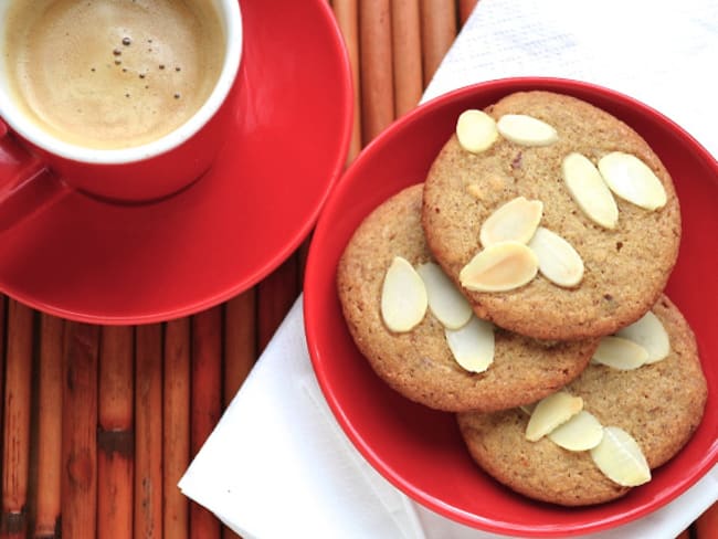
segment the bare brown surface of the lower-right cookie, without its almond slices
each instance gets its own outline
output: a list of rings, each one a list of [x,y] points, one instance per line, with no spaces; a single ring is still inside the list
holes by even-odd
[[[652,311],[669,339],[668,356],[633,370],[591,364],[566,388],[583,399],[583,410],[603,426],[619,426],[641,447],[648,467],[671,459],[703,418],[707,385],[696,340],[678,309],[665,296]],[[590,452],[559,447],[549,437],[526,438],[529,415],[519,409],[457,414],[473,458],[489,475],[531,498],[566,506],[599,504],[625,495],[603,475]]]

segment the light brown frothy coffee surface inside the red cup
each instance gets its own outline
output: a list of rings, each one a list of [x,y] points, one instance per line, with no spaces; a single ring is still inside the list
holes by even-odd
[[[219,78],[224,33],[208,0],[11,0],[7,71],[43,130],[83,147],[157,140]]]

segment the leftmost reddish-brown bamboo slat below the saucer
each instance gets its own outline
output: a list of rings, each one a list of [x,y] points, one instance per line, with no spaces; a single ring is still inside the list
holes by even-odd
[[[28,533],[33,313],[11,299],[7,324],[0,537],[14,538]]]

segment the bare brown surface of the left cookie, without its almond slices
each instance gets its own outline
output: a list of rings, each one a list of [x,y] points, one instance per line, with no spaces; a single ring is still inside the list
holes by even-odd
[[[339,262],[344,316],[377,374],[408,399],[444,411],[489,411],[532,402],[576,378],[588,364],[595,340],[550,345],[496,329],[493,363],[478,373],[457,363],[444,326],[431,310],[409,331],[387,327],[382,287],[393,258],[401,256],[414,267],[432,260],[421,207],[421,184],[386,201],[357,229]]]

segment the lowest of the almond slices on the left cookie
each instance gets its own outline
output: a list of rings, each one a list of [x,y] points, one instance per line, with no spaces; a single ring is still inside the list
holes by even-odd
[[[456,362],[469,372],[484,372],[494,362],[494,326],[473,316],[461,329],[444,329]]]

